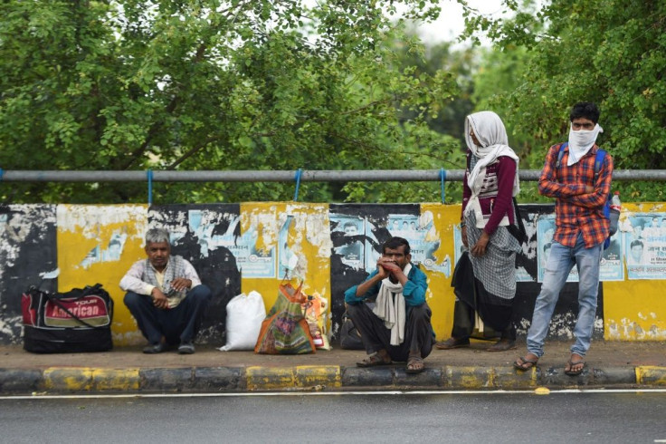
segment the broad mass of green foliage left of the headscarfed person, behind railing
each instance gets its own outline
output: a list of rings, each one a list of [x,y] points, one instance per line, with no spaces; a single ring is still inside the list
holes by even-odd
[[[458,86],[400,63],[425,0],[0,5],[3,169],[435,169]],[[398,6],[403,13],[398,14]],[[395,21],[395,17],[399,20]],[[301,185],[310,201],[433,201],[438,184]],[[163,184],[156,201],[290,199],[293,184]],[[10,202],[140,202],[146,185],[13,184]]]

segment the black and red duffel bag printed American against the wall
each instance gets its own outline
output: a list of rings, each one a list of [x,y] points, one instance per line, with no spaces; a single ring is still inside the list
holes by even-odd
[[[100,284],[67,293],[30,287],[22,296],[21,309],[28,352],[106,352],[113,348],[113,300]]]

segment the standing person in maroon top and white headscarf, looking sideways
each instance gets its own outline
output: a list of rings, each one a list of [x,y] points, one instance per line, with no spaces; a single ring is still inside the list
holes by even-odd
[[[516,348],[511,322],[516,295],[516,254],[520,251],[519,217],[513,197],[520,189],[519,158],[508,143],[507,130],[492,111],[465,120],[467,169],[463,179],[461,236],[467,248],[453,272],[456,294],[452,337],[440,350],[468,347],[474,314],[496,332],[499,342],[489,352]]]

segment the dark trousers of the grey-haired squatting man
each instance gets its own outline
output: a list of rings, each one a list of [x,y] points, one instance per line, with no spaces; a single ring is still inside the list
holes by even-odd
[[[180,304],[167,310],[157,308],[150,296],[145,294],[128,292],[124,302],[148,343],[160,343],[164,336],[166,343],[176,345],[195,339],[210,299],[210,289],[205,285],[196,285]]]

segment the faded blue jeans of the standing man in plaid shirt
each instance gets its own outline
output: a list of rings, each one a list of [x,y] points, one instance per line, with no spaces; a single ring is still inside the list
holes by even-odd
[[[583,235],[579,234],[576,245],[571,248],[553,242],[546,264],[541,293],[532,314],[532,324],[528,331],[528,352],[539,358],[544,354],[544,340],[548,324],[553,316],[559,292],[566,283],[566,277],[576,264],[578,268],[578,319],[574,335],[576,343],[571,352],[585,356],[592,341],[595,327],[596,295],[599,290],[599,265],[604,252],[604,244],[585,248]]]

